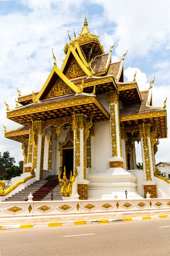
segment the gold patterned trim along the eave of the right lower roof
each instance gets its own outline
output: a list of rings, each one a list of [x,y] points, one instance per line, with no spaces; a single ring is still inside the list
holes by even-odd
[[[153,113],[142,113],[142,114],[131,115],[131,116],[121,116],[120,122],[135,120],[135,119],[150,118],[150,117],[166,116],[166,115],[167,115],[166,111],[159,111],[159,112],[153,112]]]

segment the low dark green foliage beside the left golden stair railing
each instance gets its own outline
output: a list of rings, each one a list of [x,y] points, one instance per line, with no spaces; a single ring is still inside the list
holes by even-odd
[[[11,166],[6,168],[6,172],[1,176],[1,180],[10,180],[13,177],[20,176],[23,173],[23,161],[19,161],[19,166]]]

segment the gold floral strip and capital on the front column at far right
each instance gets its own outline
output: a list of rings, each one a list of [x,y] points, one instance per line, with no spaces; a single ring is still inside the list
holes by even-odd
[[[149,141],[150,139],[150,124],[139,125],[139,134],[141,139],[143,139],[143,150],[144,150],[144,169],[146,173],[146,180],[152,180],[151,177],[151,163],[150,163],[150,153],[149,153]]]

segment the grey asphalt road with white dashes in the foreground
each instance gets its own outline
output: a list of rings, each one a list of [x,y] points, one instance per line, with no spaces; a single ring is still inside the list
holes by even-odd
[[[170,219],[0,231],[0,256],[170,256]]]

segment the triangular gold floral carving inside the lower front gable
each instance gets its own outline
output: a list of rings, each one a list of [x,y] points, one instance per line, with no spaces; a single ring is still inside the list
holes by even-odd
[[[46,99],[54,98],[61,95],[68,95],[74,93],[65,82],[59,78],[48,93]]]

